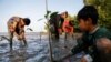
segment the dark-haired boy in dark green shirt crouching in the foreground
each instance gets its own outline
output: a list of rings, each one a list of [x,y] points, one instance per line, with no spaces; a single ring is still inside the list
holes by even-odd
[[[99,50],[97,43],[101,43],[98,42],[98,40],[101,38],[111,40],[111,33],[105,28],[100,28],[98,25],[99,14],[93,6],[84,6],[79,11],[77,18],[79,21],[80,30],[83,32],[81,38],[82,41],[78,41],[78,44],[71,50],[72,53],[64,56],[63,59],[83,51],[85,55],[82,58],[81,62],[102,62],[100,58],[102,54],[100,53],[101,51]],[[102,44],[107,45],[105,43]]]

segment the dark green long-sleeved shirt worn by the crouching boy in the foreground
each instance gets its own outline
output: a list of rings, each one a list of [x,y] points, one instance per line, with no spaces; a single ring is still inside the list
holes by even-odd
[[[99,52],[97,50],[95,43],[100,38],[111,39],[111,33],[105,28],[99,28],[93,33],[84,32],[82,37],[82,41],[78,41],[78,45],[72,49],[72,53],[77,54],[81,51],[84,51],[87,54],[90,54],[93,62],[99,62]],[[98,59],[97,59],[98,58]]]

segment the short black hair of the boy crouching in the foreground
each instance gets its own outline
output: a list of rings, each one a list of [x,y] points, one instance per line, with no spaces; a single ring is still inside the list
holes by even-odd
[[[87,20],[88,18],[91,18],[92,24],[98,23],[99,14],[98,10],[93,6],[84,6],[77,16],[78,20]]]

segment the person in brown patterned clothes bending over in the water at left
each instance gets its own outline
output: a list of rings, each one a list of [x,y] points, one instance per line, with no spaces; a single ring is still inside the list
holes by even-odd
[[[10,49],[12,49],[12,39],[13,35],[17,35],[18,40],[22,40],[27,45],[24,37],[24,25],[30,24],[29,18],[12,17],[8,21],[8,31],[10,37]]]

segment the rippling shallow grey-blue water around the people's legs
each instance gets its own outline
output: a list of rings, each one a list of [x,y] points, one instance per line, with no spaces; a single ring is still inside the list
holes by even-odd
[[[3,34],[8,37],[7,34]],[[69,53],[69,50],[74,43],[69,41],[68,48],[63,49],[63,38],[60,41],[51,42],[52,55],[58,60]],[[28,46],[24,46],[21,41],[16,38],[13,40],[13,50],[10,51],[7,40],[0,41],[0,62],[50,62],[49,40],[48,35],[40,37],[37,33],[27,34]],[[70,43],[71,42],[71,43]],[[64,62],[69,62],[68,60]],[[78,62],[75,59],[71,62]]]

